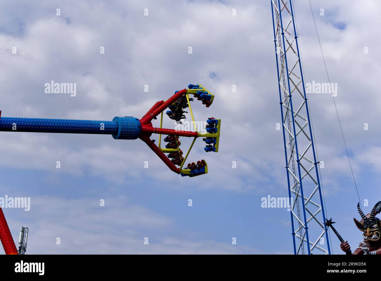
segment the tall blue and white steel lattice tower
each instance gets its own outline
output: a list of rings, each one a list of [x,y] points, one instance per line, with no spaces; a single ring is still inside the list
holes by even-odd
[[[291,0],[271,10],[294,254],[331,254]]]

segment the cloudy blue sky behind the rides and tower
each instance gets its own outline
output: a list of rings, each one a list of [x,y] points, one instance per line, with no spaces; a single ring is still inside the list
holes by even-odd
[[[381,200],[381,3],[311,2],[360,199],[372,206]],[[309,3],[294,4],[305,81],[328,82]],[[201,83],[215,101],[210,108],[194,101],[196,120],[223,122],[219,153],[203,152],[200,140],[192,149],[189,161],[205,159],[209,169],[195,178],[171,172],[140,140],[2,132],[0,197],[30,197],[30,211],[4,209],[15,241],[20,226],[29,227],[27,254],[293,253],[290,213],[261,207],[263,197],[288,196],[270,1],[0,7],[2,116],[140,118],[175,90]],[[46,94],[51,80],[76,83],[77,95]],[[362,241],[353,223],[359,199],[333,100],[316,93],[309,102],[327,214],[354,249]],[[164,124],[174,127],[168,118]],[[332,235],[333,253],[341,254]]]

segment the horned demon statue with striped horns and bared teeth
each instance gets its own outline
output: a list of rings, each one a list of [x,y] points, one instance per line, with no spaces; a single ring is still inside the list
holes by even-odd
[[[361,216],[360,222],[353,218],[355,224],[359,230],[363,232],[363,242],[360,242],[360,246],[352,253],[351,247],[347,241],[340,244],[341,249],[346,252],[347,255],[381,255],[381,225],[379,218],[376,215],[381,212],[381,201],[373,207],[372,211],[364,215],[360,209],[360,203],[357,204],[357,210]]]

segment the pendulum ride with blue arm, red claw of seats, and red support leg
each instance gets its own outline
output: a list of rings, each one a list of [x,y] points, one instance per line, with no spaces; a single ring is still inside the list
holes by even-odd
[[[205,128],[206,132],[197,132],[191,107],[191,101],[194,99],[189,97],[190,95],[201,101],[207,108],[213,103],[214,95],[210,91],[200,84],[189,84],[188,89],[176,91],[168,100],[155,103],[141,119],[128,116],[114,117],[112,121],[1,117],[0,111],[0,131],[102,134],[112,135],[115,140],[135,140],[140,138],[162,159],[170,170],[180,174],[182,177],[196,177],[208,173],[207,162],[205,162],[205,160],[191,162],[183,169],[184,163],[187,160],[195,140],[199,137],[202,137],[206,143],[204,151],[218,152],[221,119],[208,118]],[[163,111],[166,108],[170,109],[166,111],[166,115],[180,122],[181,119],[185,118],[184,113],[187,113],[184,111],[184,108],[188,107],[195,129],[194,132],[162,128]],[[152,120],[157,119],[159,114],[160,127],[156,128],[152,126]],[[154,140],[150,138],[153,133],[159,135],[158,146],[155,145]],[[163,139],[163,141],[167,143],[165,148],[161,147],[162,135],[167,135]],[[193,138],[192,144],[185,156],[183,156],[183,152],[180,149],[180,136]],[[168,153],[168,155],[164,153]],[[23,231],[25,232],[25,230]],[[24,241],[25,235],[27,237],[27,234],[24,233],[21,238],[20,234],[21,243]],[[21,245],[22,247],[18,252],[1,208],[0,239],[6,254],[24,254],[26,241],[24,242],[25,245]]]

